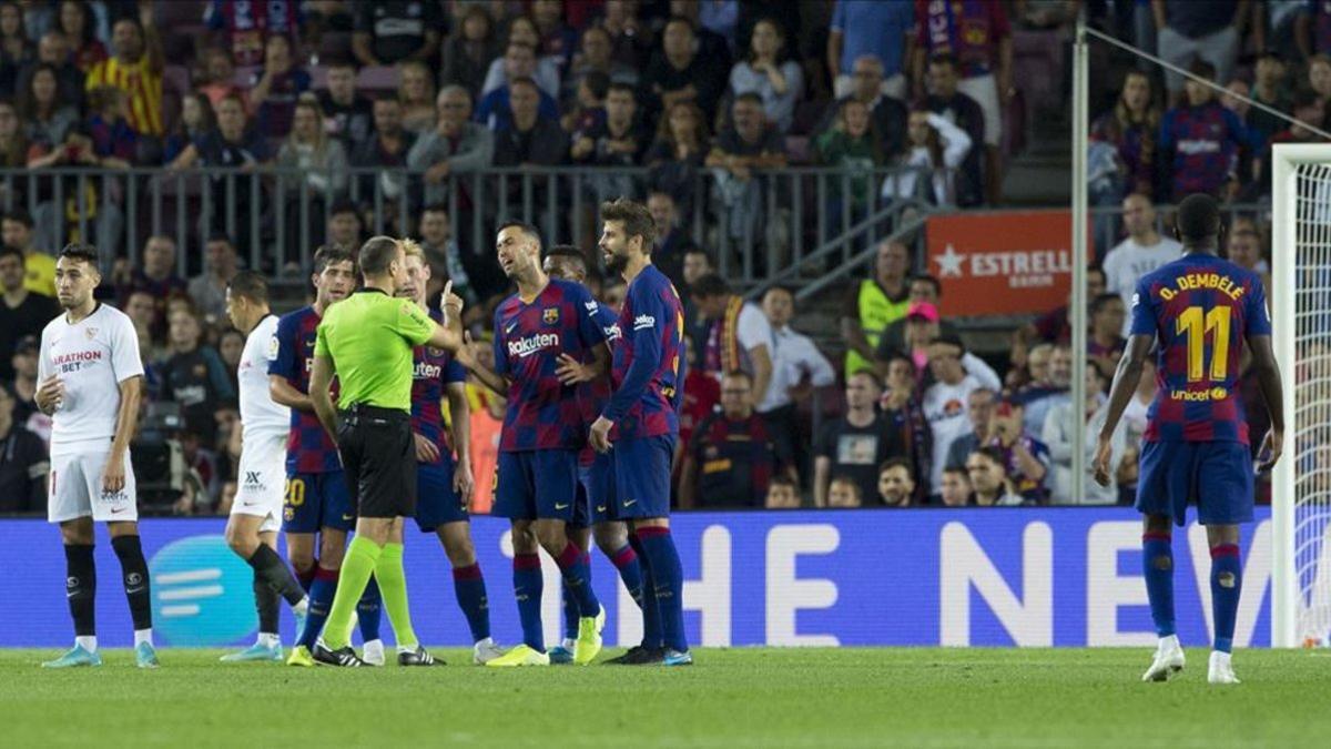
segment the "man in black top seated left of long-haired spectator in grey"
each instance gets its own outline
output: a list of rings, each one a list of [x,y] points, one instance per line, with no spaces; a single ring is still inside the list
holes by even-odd
[[[643,88],[652,112],[673,112],[676,104],[695,104],[704,124],[716,119],[716,104],[725,92],[725,68],[699,48],[693,23],[675,16],[662,31],[662,48],[643,72]],[[663,125],[664,127],[664,125]]]

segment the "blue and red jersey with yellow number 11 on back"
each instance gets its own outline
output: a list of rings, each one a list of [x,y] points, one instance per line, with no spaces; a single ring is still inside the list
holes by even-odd
[[[1256,273],[1214,255],[1185,255],[1137,283],[1131,332],[1159,344],[1145,440],[1248,442],[1238,386],[1243,341],[1271,335]]]

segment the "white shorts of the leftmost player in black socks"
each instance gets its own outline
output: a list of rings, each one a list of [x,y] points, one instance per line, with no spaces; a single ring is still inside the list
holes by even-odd
[[[114,494],[101,490],[101,474],[110,450],[51,456],[47,477],[47,520],[64,522],[92,516],[98,522],[138,520],[138,492],[134,468],[125,450],[125,488]]]

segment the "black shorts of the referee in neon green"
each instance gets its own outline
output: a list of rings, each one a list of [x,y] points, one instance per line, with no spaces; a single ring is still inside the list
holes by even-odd
[[[357,517],[414,517],[417,464],[411,414],[357,404],[341,416],[338,453]]]

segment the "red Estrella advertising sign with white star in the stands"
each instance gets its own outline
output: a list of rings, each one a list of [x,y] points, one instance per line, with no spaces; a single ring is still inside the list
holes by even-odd
[[[1022,315],[1067,304],[1070,211],[930,216],[929,273],[942,281],[942,313]],[[1087,244],[1090,225],[1087,223]]]

